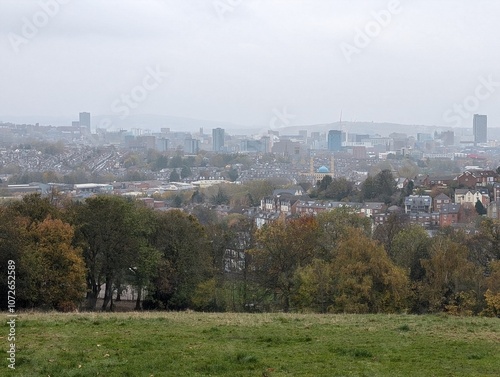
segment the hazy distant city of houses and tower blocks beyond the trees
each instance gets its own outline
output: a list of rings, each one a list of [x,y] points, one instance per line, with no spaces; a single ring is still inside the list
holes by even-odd
[[[475,114],[471,126],[469,134],[450,129],[415,129],[410,134],[402,132],[404,128],[388,135],[358,133],[350,131],[353,124],[342,122],[251,135],[230,134],[222,127],[200,127],[197,132],[96,127],[92,132],[89,112],[81,112],[71,126],[1,123],[0,196],[48,195],[57,188],[73,198],[134,195],[153,207],[169,208],[172,195],[179,192],[270,180],[276,187],[303,188],[292,189],[295,194],[256,198],[260,205],[243,208],[260,225],[281,215],[315,214],[343,205],[379,224],[395,210],[395,203],[351,197],[325,201],[328,198],[308,195],[325,176],[346,179],[361,191],[368,177],[385,169],[398,189],[406,190],[411,182],[399,210],[413,222],[427,228],[451,225],[440,214],[452,211],[457,214],[452,222],[458,223],[460,206],[474,206],[478,200],[489,216],[498,218],[500,141],[488,137],[486,115]]]

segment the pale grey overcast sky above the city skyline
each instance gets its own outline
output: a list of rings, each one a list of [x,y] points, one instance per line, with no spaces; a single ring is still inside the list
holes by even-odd
[[[498,0],[3,0],[0,120],[500,126]]]

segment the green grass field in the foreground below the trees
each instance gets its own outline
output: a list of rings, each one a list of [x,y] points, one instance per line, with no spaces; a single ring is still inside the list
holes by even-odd
[[[500,376],[497,318],[25,313],[16,338],[0,376]]]

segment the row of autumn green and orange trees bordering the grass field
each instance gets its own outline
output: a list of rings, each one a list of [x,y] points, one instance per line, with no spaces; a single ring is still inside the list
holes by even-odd
[[[346,208],[260,229],[205,212],[25,196],[0,207],[3,276],[14,260],[17,307],[43,310],[113,310],[132,286],[138,310],[500,315],[499,221],[430,237],[397,214],[372,230]]]

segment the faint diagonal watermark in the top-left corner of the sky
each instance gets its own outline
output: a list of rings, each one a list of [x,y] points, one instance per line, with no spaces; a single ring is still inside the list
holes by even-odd
[[[66,5],[71,0],[40,0],[38,6],[40,7],[30,17],[21,18],[21,28],[18,33],[10,32],[7,34],[10,45],[14,52],[17,54],[22,45],[31,42],[40,31],[45,28],[54,17],[61,11],[61,5]]]

